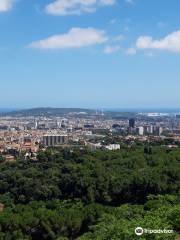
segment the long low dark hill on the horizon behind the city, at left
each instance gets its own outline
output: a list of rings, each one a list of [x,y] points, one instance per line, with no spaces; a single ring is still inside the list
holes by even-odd
[[[4,112],[1,113],[1,116],[64,116],[67,114],[77,114],[77,115],[85,115],[85,114],[93,114],[94,110],[83,109],[83,108],[32,108],[32,109],[24,109],[18,111]]]

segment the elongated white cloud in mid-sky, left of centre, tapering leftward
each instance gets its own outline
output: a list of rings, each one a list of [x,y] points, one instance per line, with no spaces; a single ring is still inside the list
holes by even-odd
[[[40,49],[81,48],[101,44],[107,40],[108,37],[103,30],[95,28],[72,28],[68,33],[32,42],[29,47]]]

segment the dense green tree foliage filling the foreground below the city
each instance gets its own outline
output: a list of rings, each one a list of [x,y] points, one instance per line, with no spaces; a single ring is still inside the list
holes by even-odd
[[[47,149],[0,162],[0,239],[137,239],[137,226],[180,233],[180,149]],[[167,195],[168,194],[168,195]]]

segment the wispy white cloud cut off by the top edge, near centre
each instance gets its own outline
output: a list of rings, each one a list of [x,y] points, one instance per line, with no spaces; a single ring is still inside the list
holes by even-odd
[[[114,5],[116,0],[56,0],[45,7],[52,15],[80,15],[95,12],[97,7]]]

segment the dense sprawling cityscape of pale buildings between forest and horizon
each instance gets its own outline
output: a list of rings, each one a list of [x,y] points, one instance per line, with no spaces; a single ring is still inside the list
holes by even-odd
[[[39,149],[47,147],[88,147],[91,150],[118,150],[121,143],[169,140],[176,148],[180,141],[178,113],[118,113],[91,110],[46,115],[40,109],[23,115],[4,113],[0,117],[0,152],[7,161],[19,155],[36,160]],[[37,109],[34,109],[34,113]],[[68,111],[68,109],[67,109]],[[83,109],[82,109],[83,111]],[[32,112],[32,113],[31,113]],[[32,114],[32,115],[31,115]],[[132,115],[134,115],[132,117]]]

